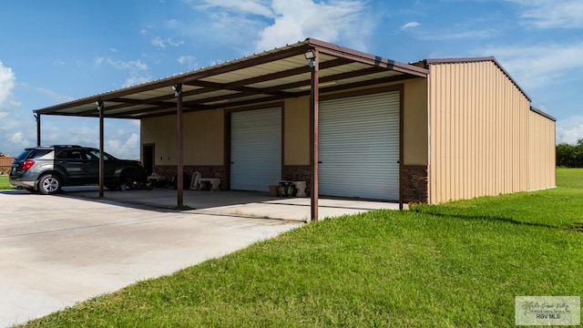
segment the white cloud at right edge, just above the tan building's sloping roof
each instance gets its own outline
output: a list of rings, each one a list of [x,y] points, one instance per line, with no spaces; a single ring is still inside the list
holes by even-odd
[[[583,42],[572,45],[498,46],[479,51],[496,56],[502,66],[526,88],[544,87],[558,78],[583,70]]]

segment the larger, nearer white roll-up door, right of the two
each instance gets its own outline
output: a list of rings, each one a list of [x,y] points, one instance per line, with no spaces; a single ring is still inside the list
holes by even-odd
[[[321,195],[399,200],[399,92],[320,103]]]

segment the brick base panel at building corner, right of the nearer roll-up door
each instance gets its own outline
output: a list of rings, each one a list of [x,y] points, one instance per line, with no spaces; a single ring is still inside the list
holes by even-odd
[[[427,193],[428,169],[424,165],[404,165],[401,171],[401,192],[405,203],[422,202],[429,199]]]

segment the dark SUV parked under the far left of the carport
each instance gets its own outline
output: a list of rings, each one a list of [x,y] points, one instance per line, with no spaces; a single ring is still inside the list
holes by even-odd
[[[104,185],[108,190],[131,187],[145,179],[136,160],[103,153]],[[12,163],[10,183],[30,192],[54,194],[64,186],[99,183],[99,150],[74,145],[25,149]]]

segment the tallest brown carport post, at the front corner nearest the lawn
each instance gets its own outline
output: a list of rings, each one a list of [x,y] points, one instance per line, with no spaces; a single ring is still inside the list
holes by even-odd
[[[318,82],[320,76],[320,61],[318,49],[313,50],[313,58],[310,62],[312,67],[312,78],[310,89],[310,207],[311,219],[318,221],[318,116],[320,93]]]

